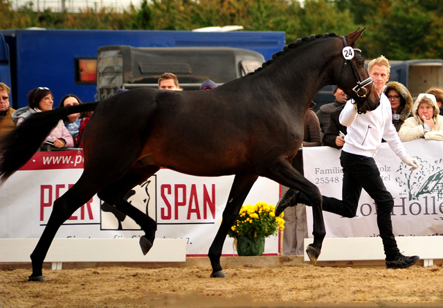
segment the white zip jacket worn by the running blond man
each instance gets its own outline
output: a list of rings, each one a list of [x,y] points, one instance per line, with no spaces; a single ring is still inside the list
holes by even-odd
[[[357,114],[353,102],[346,103],[339,117],[340,123],[347,126],[343,151],[372,157],[377,154],[383,138],[399,158],[404,158],[406,150],[392,125],[392,109],[386,95],[382,93],[379,107],[366,114]]]

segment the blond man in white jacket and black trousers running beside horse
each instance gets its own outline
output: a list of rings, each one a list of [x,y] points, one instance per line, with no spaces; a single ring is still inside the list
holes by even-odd
[[[415,158],[406,153],[399,135],[395,132],[395,127],[391,124],[390,102],[383,93],[389,79],[389,71],[390,65],[386,57],[381,56],[369,62],[368,72],[380,96],[379,107],[365,114],[358,114],[351,100],[341,111],[340,123],[347,126],[346,142],[340,156],[343,167],[343,199],[323,196],[322,206],[327,212],[343,217],[355,217],[361,190],[368,192],[377,206],[377,226],[386,255],[386,268],[404,269],[415,264],[419,257],[417,255],[407,257],[399,251],[392,233],[390,218],[394,199],[383,184],[373,156],[381,145],[381,138],[384,138],[401,161],[412,167],[410,170],[417,169],[419,165]],[[288,190],[278,201],[275,216],[280,215],[288,206],[295,206],[297,203],[311,205],[305,194],[293,189]]]

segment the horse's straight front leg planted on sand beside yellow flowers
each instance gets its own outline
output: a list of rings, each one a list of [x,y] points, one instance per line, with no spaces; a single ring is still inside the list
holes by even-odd
[[[213,266],[213,273],[210,274],[210,277],[224,278],[227,276],[220,265],[221,249],[223,248],[226,235],[228,235],[228,230],[233,226],[235,219],[237,219],[243,202],[257,178],[258,176],[251,174],[235,175],[233,185],[230,188],[228,203],[226,203],[226,208],[223,211],[223,221],[221,221],[217,235],[215,235],[213,244],[209,248],[208,257],[210,264]]]

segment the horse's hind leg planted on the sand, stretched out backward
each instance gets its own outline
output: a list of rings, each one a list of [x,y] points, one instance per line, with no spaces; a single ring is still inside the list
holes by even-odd
[[[42,266],[57,230],[62,226],[64,221],[73,215],[75,210],[78,210],[80,206],[91,200],[96,192],[97,190],[94,190],[94,185],[87,183],[84,180],[84,176],[82,176],[71,189],[54,201],[53,211],[49,217],[48,224],[44,228],[33,253],[30,255],[33,264],[33,273],[29,276],[29,281],[45,281],[42,274]]]

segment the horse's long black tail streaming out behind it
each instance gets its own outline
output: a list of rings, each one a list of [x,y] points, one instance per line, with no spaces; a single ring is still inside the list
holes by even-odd
[[[0,141],[0,184],[37,152],[57,123],[69,114],[93,111],[99,102],[36,112]]]

